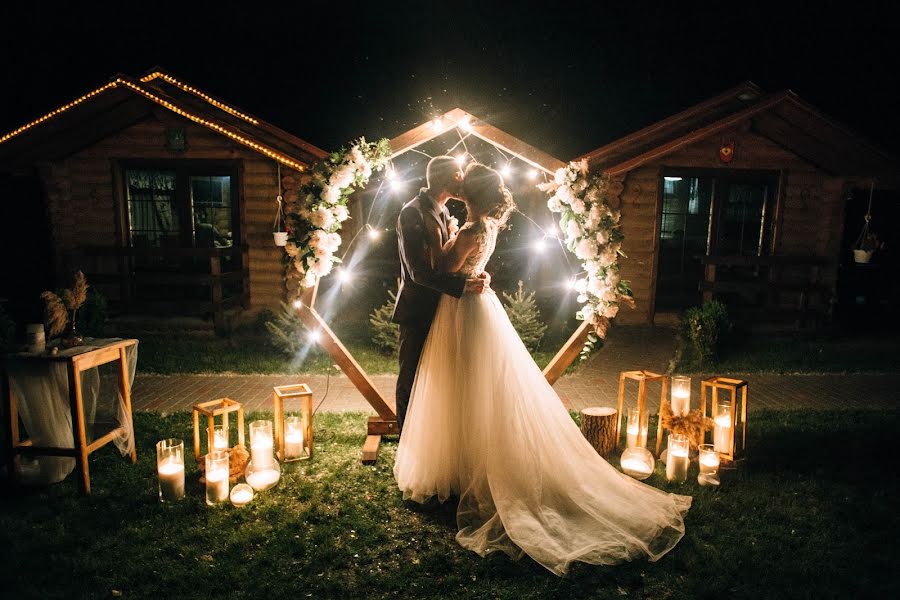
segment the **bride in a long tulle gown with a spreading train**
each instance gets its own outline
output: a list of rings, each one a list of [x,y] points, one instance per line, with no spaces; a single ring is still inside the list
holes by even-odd
[[[480,274],[513,209],[497,171],[472,164],[448,272]],[[684,535],[689,496],[620,473],[581,434],[493,293],[442,295],[422,351],[394,476],[404,499],[459,498],[456,540],[481,556],[655,561]]]

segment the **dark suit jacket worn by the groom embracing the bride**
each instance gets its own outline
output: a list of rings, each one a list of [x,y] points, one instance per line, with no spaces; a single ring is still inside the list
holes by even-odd
[[[443,245],[449,237],[449,218],[447,209],[438,206],[425,188],[400,210],[397,218],[400,291],[391,316],[394,323],[428,328],[437,312],[442,293],[462,297],[465,278],[440,273],[432,267],[429,260],[429,246]],[[440,239],[434,239],[435,229],[440,232]]]

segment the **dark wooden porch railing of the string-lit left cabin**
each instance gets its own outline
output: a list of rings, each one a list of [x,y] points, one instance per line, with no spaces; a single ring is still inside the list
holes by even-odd
[[[234,268],[223,271],[223,260],[233,257]],[[102,259],[115,259],[115,267]],[[196,263],[208,264],[202,271],[164,270],[152,265],[140,266],[135,259],[168,258],[184,264],[189,259],[200,259]],[[206,259],[206,260],[203,260]],[[69,256],[70,266],[81,269],[89,283],[118,284],[122,309],[151,309],[174,315],[212,313],[216,331],[222,331],[224,311],[235,306],[249,307],[250,302],[250,259],[248,246],[237,245],[228,248],[148,248],[83,246]],[[208,263],[206,263],[208,261]],[[227,293],[226,285],[237,283],[239,292]],[[157,300],[141,298],[137,286],[162,286],[181,289],[208,288],[208,299]]]

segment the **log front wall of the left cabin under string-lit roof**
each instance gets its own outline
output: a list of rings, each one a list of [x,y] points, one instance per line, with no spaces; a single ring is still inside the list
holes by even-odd
[[[187,148],[166,148],[165,131],[184,127]],[[243,207],[243,242],[249,245],[250,306],[253,311],[277,310],[285,297],[284,251],[274,245],[272,224],[278,194],[277,165],[273,160],[164,109],[140,123],[89,146],[65,160],[44,165],[51,234],[57,273],[64,274],[63,256],[84,245],[115,246],[122,236],[127,210],[118,205],[114,181],[116,160],[227,160],[240,161],[238,178]],[[290,169],[282,168],[282,176]],[[114,263],[110,262],[112,271]],[[110,288],[113,291],[113,288]]]

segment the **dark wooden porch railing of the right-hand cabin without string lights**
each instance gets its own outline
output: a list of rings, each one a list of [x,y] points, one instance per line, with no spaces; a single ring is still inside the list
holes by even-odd
[[[703,300],[723,294],[756,298],[756,316],[765,320],[790,317],[794,325],[819,324],[835,293],[836,259],[825,256],[700,256]],[[723,268],[745,267],[749,279],[723,280]],[[830,275],[830,277],[829,277]],[[784,296],[790,295],[788,302]],[[750,311],[744,311],[750,312]]]

